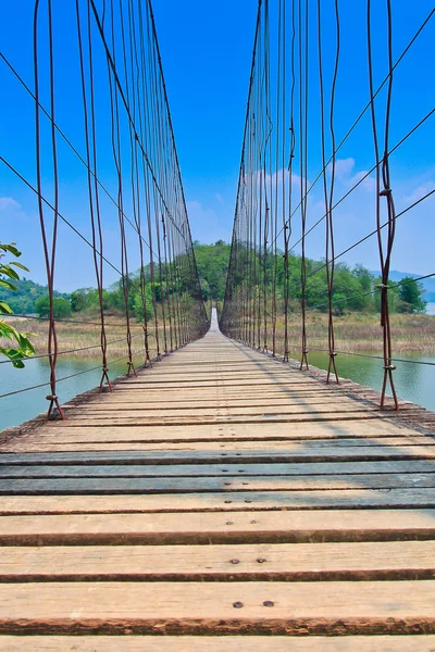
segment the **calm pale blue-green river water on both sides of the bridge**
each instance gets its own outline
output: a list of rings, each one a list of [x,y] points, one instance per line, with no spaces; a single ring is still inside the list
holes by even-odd
[[[370,352],[369,352],[370,353]],[[378,355],[378,353],[375,353]],[[401,399],[412,401],[435,411],[435,366],[415,364],[431,362],[431,355],[400,355],[410,362],[397,362],[394,372],[397,393]],[[339,354],[337,356],[338,374],[356,383],[381,390],[383,379],[383,361]],[[136,361],[135,361],[136,363]],[[327,355],[310,351],[309,363],[320,368],[327,368]],[[0,393],[24,389],[25,387],[48,383],[49,366],[47,359],[29,360],[24,369],[14,369],[10,364],[0,364]],[[139,364],[139,361],[137,361]],[[76,394],[96,387],[100,383],[101,368],[95,358],[83,359],[66,355],[58,361],[58,378],[79,374],[74,378],[59,383],[58,394],[62,403]],[[90,371],[88,371],[90,369]],[[126,372],[126,362],[117,362],[111,366],[110,377],[116,378]],[[47,410],[46,396],[49,387],[40,387],[0,399],[0,431],[3,428],[17,426]]]

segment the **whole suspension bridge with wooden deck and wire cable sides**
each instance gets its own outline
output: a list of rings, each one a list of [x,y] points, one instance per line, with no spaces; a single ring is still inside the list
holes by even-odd
[[[44,360],[48,377],[2,388],[2,401],[47,391],[47,413],[1,435],[0,650],[435,648],[435,415],[395,388],[398,365],[434,363],[395,353],[390,318],[403,285],[390,281],[396,227],[435,192],[426,185],[397,208],[394,153],[427,139],[435,109],[422,92],[414,122],[397,120],[394,89],[419,43],[433,42],[435,9],[397,51],[390,1],[383,29],[378,5],[363,4],[368,93],[344,127],[344,3],[258,2],[216,306],[202,300],[150,0],[37,0],[23,28],[32,75],[1,52],[4,87],[28,111],[1,163],[35,203],[49,300],[47,317],[5,317],[16,329],[44,323],[47,351],[16,349],[0,364],[12,374]],[[338,152],[359,128],[372,167],[339,195]],[[339,210],[364,183],[366,231],[351,241]],[[380,281],[338,291],[337,261],[361,246],[376,248]],[[57,274],[73,250],[97,309],[61,318]],[[339,376],[340,356],[372,354],[340,348],[337,315],[369,300],[380,392]],[[94,343],[66,347],[72,328],[94,329]],[[87,371],[62,376],[62,356],[92,349],[99,386],[63,399]],[[319,350],[325,372],[310,364]]]

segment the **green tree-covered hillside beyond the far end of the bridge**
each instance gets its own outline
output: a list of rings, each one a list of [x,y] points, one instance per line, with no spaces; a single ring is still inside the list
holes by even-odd
[[[214,300],[222,303],[225,297],[226,273],[231,247],[223,240],[217,240],[214,244],[201,244],[194,242],[197,260],[198,273],[201,281],[202,297],[206,301]],[[276,278],[276,299],[279,301],[285,293],[285,265],[282,253],[277,255],[269,254],[266,259],[259,253],[253,254],[252,250],[246,251],[246,256],[239,255],[243,261],[239,278],[236,283],[244,283],[249,278],[249,283],[254,286],[262,285],[265,277],[266,283],[272,287]],[[298,310],[301,299],[301,262],[300,258],[290,254],[288,258],[289,269],[289,306],[290,310]],[[154,283],[150,283],[151,268],[148,265],[145,268],[146,286],[145,299],[147,305],[147,317],[152,317],[154,310],[158,309],[162,300],[171,300],[175,289],[181,292],[182,302],[189,301],[189,294],[196,291],[195,288],[187,286],[189,274],[185,261],[176,261],[176,277],[165,276],[164,269],[160,277],[160,269],[154,268]],[[401,278],[400,283],[411,281],[411,278]],[[343,314],[349,311],[377,312],[380,309],[378,292],[373,292],[378,279],[369,269],[362,265],[350,267],[346,263],[335,265],[334,276],[334,306],[336,314]],[[390,281],[395,286],[397,281]],[[23,279],[16,283],[17,291],[13,292],[7,288],[1,288],[0,299],[7,301],[15,314],[33,314],[47,316],[49,313],[48,289],[33,280]],[[235,287],[235,285],[233,285]],[[259,290],[260,291],[260,290]],[[391,288],[389,296],[391,312],[424,312],[425,302],[422,298],[423,288],[418,283],[408,283],[401,287]],[[55,316],[65,318],[72,313],[90,314],[98,310],[99,296],[95,288],[79,288],[71,294],[57,292],[54,301]],[[316,308],[320,312],[325,312],[327,286],[326,274],[323,261],[307,259],[307,306]],[[109,313],[122,313],[125,309],[124,285],[122,280],[112,284],[103,290],[103,305]],[[132,273],[128,278],[128,305],[130,314],[137,319],[144,318],[144,306],[141,298],[140,272]]]

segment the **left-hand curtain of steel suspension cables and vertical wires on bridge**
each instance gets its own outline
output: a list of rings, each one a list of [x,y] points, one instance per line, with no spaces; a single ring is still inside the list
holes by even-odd
[[[2,52],[0,73],[3,87],[13,87],[23,104],[30,140],[34,130],[36,165],[13,147],[4,148],[0,161],[11,184],[18,180],[22,192],[36,198],[49,311],[11,318],[47,324],[40,335],[47,337],[48,350],[40,352],[36,342],[32,358],[48,359],[48,418],[63,418],[57,384],[78,374],[58,378],[60,355],[99,350],[100,366],[89,371],[100,368],[100,389],[111,391],[113,363],[126,360],[127,374],[136,374],[138,364],[149,366],[203,336],[209,318],[151,2],[75,0],[61,7],[35,0],[32,45],[28,62]],[[29,65],[33,84],[23,72]],[[8,118],[13,123],[13,116]],[[69,265],[73,260],[75,265]],[[71,287],[74,267],[77,277],[94,285],[97,299],[83,318],[80,313],[60,318],[55,289],[65,283]],[[108,303],[110,284],[113,304]],[[66,333],[70,324],[83,337],[74,346]],[[98,343],[89,342],[91,327]],[[124,329],[123,339],[113,336],[114,328]],[[134,335],[137,328],[141,333]],[[144,348],[134,351],[133,340],[139,337]],[[110,355],[111,348],[124,347],[125,356]]]

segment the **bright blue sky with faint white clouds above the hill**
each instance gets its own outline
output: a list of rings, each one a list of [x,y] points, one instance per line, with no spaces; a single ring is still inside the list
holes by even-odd
[[[41,0],[42,2],[42,0]],[[16,0],[0,7],[1,51],[26,83],[33,86],[32,12],[34,2]],[[44,4],[44,2],[42,2]],[[55,3],[54,3],[55,4]],[[376,0],[375,35],[376,80],[386,72],[384,3]],[[323,7],[332,5],[324,0]],[[74,42],[70,29],[73,2],[58,7],[58,47],[63,48],[62,77],[59,79],[59,121],[65,133],[83,151],[80,122],[76,118],[74,92]],[[313,3],[314,7],[314,3]],[[271,10],[276,1],[271,0]],[[410,3],[394,0],[395,58],[433,9],[430,0]],[[234,204],[251,62],[257,0],[154,0],[153,2],[175,138],[182,166],[192,237],[202,242],[231,239]],[[62,15],[60,14],[62,11]],[[343,136],[368,100],[365,59],[365,0],[340,1],[343,55],[337,102],[337,138]],[[325,47],[328,28],[325,18]],[[313,42],[315,34],[313,34]],[[391,145],[412,128],[435,105],[433,61],[435,60],[435,17],[397,68],[391,121]],[[69,55],[71,52],[71,55]],[[313,50],[315,54],[315,51]],[[315,79],[315,77],[314,77]],[[0,84],[9,101],[0,106],[0,153],[30,179],[34,171],[33,105],[29,98],[0,61]],[[313,89],[314,92],[314,89]],[[102,97],[102,96],[101,96]],[[313,96],[314,97],[314,96]],[[382,111],[383,96],[380,97]],[[338,158],[337,197],[345,192],[373,164],[368,117],[361,121]],[[315,123],[315,108],[313,109]],[[435,116],[391,156],[393,189],[398,210],[435,187]],[[310,134],[309,180],[320,170],[319,135]],[[73,224],[86,230],[86,189],[74,159],[62,151],[62,210]],[[1,163],[0,163],[1,165]],[[105,171],[102,171],[105,173]],[[107,171],[108,176],[110,170]],[[111,179],[108,178],[108,183]],[[413,273],[433,272],[435,200],[432,197],[400,218],[393,267]],[[310,195],[309,224],[321,211],[321,187]],[[370,231],[373,224],[373,181],[361,185],[336,211],[337,250]],[[45,281],[38,235],[35,196],[4,167],[0,167],[0,234],[4,241],[15,240],[23,249],[23,262],[35,280]],[[298,227],[295,225],[295,237]],[[108,223],[107,248],[116,260],[117,228]],[[308,255],[323,255],[323,230],[310,237]],[[67,228],[61,227],[57,287],[72,290],[95,285],[89,252]],[[345,258],[378,268],[374,242]],[[132,261],[133,266],[135,260]],[[107,280],[114,280],[110,271]]]

